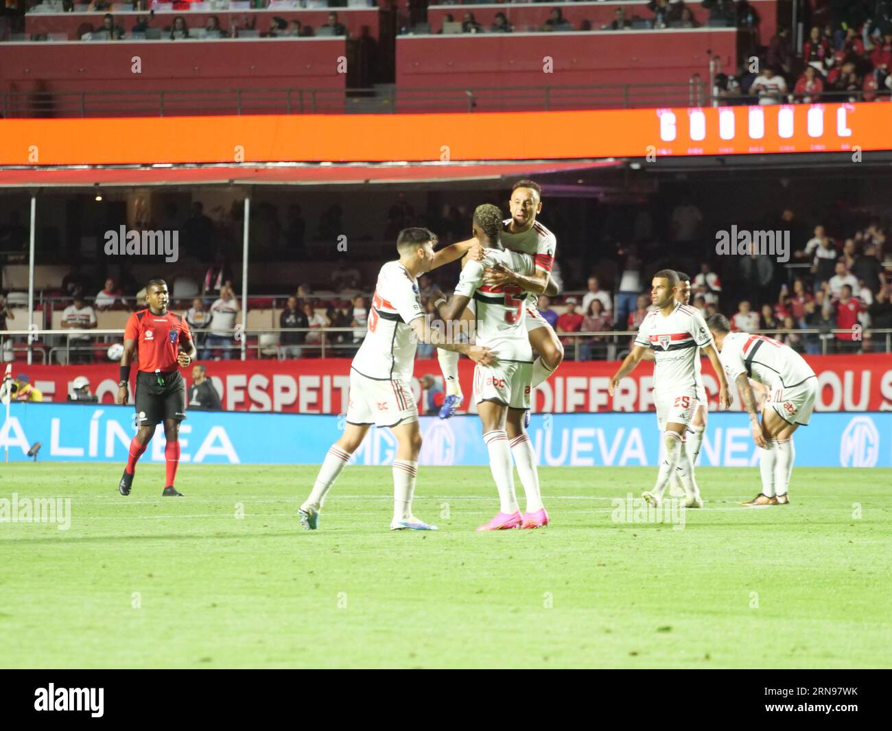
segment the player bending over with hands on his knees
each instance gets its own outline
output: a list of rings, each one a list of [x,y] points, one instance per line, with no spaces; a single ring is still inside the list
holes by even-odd
[[[759,448],[762,492],[742,504],[786,505],[796,457],[793,433],[800,424],[807,426],[811,419],[818,396],[818,379],[811,366],[789,345],[764,335],[732,333],[728,319],[722,314],[710,315],[706,324],[713,333],[728,378],[737,383],[749,412],[753,441]],[[761,424],[750,378],[769,389]]]

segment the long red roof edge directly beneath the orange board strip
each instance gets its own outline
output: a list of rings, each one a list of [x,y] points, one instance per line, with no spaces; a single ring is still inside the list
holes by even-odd
[[[620,164],[619,161],[543,161],[5,168],[0,169],[0,188],[90,188],[97,185],[101,187],[319,186],[498,181],[524,175],[612,168]]]

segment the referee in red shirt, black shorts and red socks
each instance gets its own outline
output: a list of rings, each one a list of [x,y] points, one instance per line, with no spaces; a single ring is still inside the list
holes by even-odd
[[[164,422],[164,447],[167,474],[165,497],[180,495],[174,487],[179,465],[179,422],[186,419],[186,381],[178,365],[189,365],[195,358],[195,345],[186,320],[168,312],[170,295],[163,279],[153,279],[145,287],[149,306],[134,312],[124,328],[124,355],[120,359],[118,403],[128,402],[130,363],[136,356],[136,418],[139,431],[130,442],[129,457],[118,490],[130,494],[136,462],[143,456],[155,433]]]

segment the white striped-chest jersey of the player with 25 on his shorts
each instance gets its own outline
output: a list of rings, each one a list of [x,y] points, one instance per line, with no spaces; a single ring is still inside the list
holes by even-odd
[[[655,393],[697,394],[699,348],[713,345],[712,333],[697,308],[676,303],[667,317],[659,310],[648,312],[635,345],[654,352]]]

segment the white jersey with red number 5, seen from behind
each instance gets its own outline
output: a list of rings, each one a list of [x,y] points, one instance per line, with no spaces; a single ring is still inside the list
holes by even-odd
[[[489,347],[500,361],[533,361],[524,317],[531,296],[520,287],[483,284],[483,270],[502,264],[524,276],[533,273],[533,257],[507,249],[484,249],[480,262],[469,261],[461,270],[456,295],[471,297],[477,317],[477,345]]]

